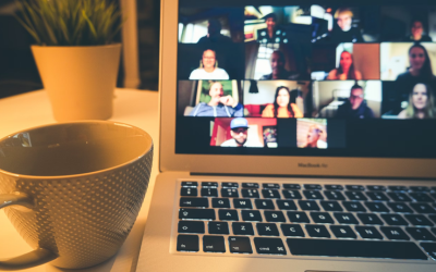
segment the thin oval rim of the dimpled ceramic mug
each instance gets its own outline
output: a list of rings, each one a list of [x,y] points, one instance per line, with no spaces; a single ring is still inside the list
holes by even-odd
[[[142,128],[137,127],[137,126],[131,125],[131,124],[123,123],[123,122],[118,122],[118,121],[100,121],[100,120],[69,121],[69,122],[60,122],[60,123],[51,123],[51,124],[44,124],[44,125],[38,125],[38,126],[32,126],[32,127],[17,131],[17,132],[15,132],[15,133],[9,134],[9,135],[7,135],[7,136],[0,138],[0,143],[2,143],[3,140],[5,140],[5,139],[8,139],[8,138],[11,138],[12,136],[14,136],[14,135],[16,135],[16,134],[20,134],[20,133],[29,132],[29,131],[34,131],[34,129],[38,129],[38,128],[43,128],[43,127],[59,126],[59,125],[68,125],[68,124],[111,124],[111,125],[117,125],[117,124],[119,124],[119,125],[124,126],[124,127],[136,128],[136,129],[140,129],[140,132],[142,132],[144,136],[148,137],[148,139],[149,139],[149,145],[148,145],[148,147],[147,147],[140,156],[135,157],[135,158],[132,159],[132,160],[129,160],[129,161],[126,161],[126,162],[120,163],[120,164],[114,165],[114,166],[110,166],[110,168],[106,168],[106,169],[101,169],[101,170],[93,171],[93,172],[86,172],[86,173],[80,173],[80,174],[70,174],[70,175],[48,175],[48,176],[45,176],[45,175],[24,175],[24,174],[17,174],[17,173],[12,173],[12,172],[9,172],[9,171],[5,171],[5,170],[0,169],[0,173],[3,173],[3,174],[9,175],[9,176],[13,176],[13,177],[27,178],[27,180],[62,180],[62,178],[72,178],[72,177],[73,177],[73,178],[80,178],[80,177],[84,177],[84,176],[88,176],[88,175],[93,175],[93,174],[100,174],[100,173],[104,173],[104,172],[112,171],[112,170],[116,170],[116,169],[123,168],[123,166],[125,166],[125,165],[132,164],[132,163],[134,163],[134,162],[141,160],[144,156],[146,156],[146,154],[147,154],[148,152],[150,152],[152,149],[153,149],[153,138],[152,138],[152,136],[150,136],[147,132],[145,132],[144,129],[142,129]]]

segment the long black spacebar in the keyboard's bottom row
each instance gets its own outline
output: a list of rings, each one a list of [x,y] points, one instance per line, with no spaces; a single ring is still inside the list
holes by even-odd
[[[292,255],[427,260],[410,242],[287,239]]]

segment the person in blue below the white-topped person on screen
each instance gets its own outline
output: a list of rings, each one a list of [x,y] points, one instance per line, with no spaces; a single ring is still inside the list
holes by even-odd
[[[242,116],[244,108],[231,96],[225,96],[222,84],[216,82],[209,88],[210,101],[199,102],[191,111],[190,116],[235,118]]]

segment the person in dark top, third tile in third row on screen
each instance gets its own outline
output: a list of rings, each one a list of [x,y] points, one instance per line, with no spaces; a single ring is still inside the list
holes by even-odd
[[[373,119],[373,110],[371,110],[363,100],[363,88],[359,85],[354,85],[351,87],[348,101],[338,107],[336,116],[340,119]]]

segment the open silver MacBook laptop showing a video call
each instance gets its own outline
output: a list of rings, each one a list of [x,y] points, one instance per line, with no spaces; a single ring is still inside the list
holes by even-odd
[[[137,271],[435,271],[431,40],[421,0],[161,1]]]

